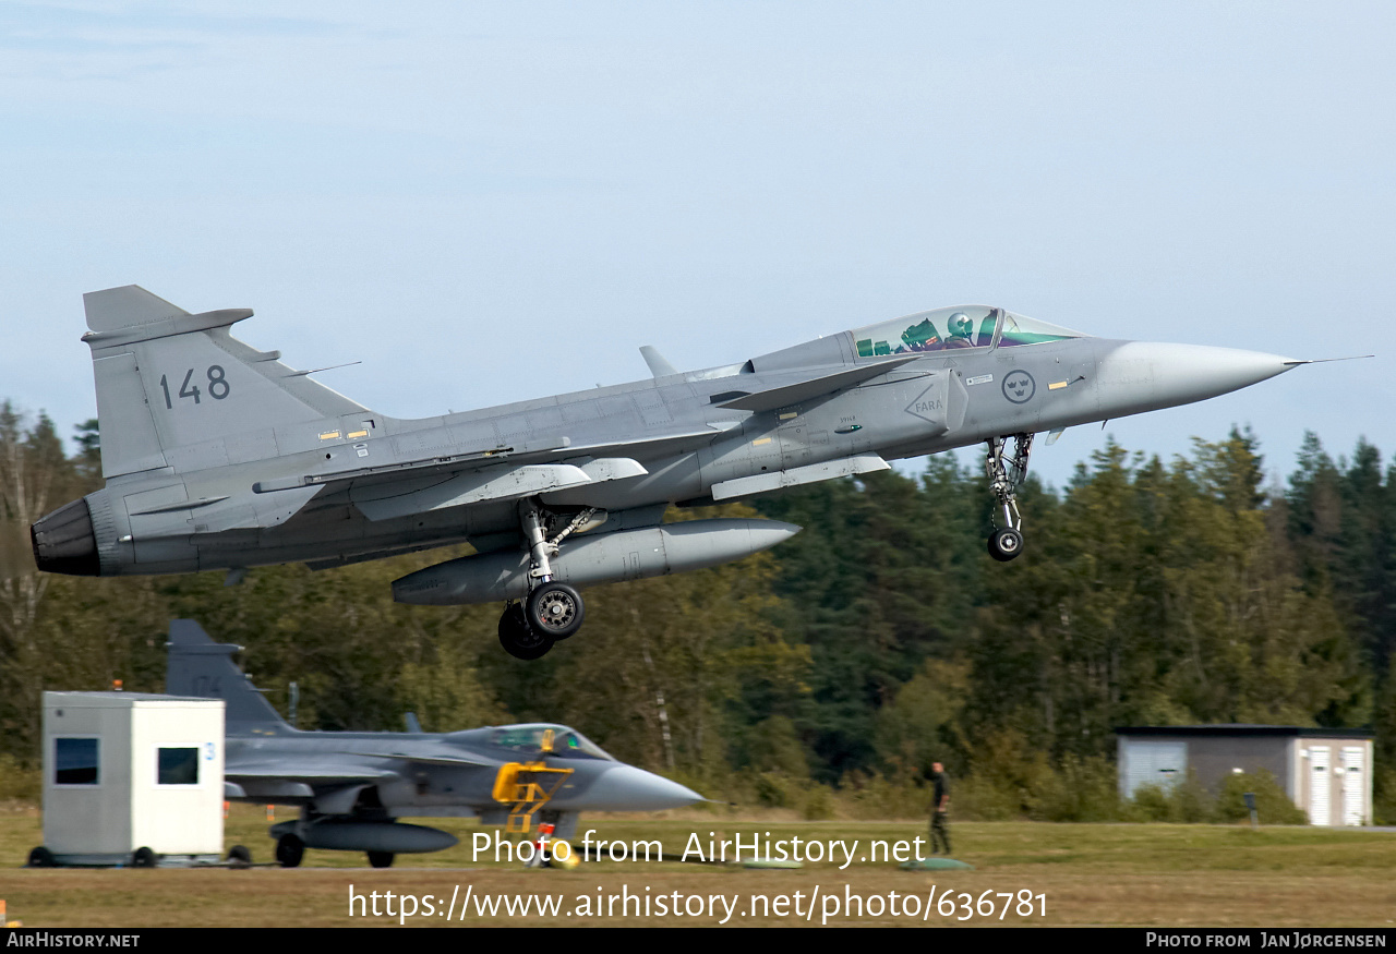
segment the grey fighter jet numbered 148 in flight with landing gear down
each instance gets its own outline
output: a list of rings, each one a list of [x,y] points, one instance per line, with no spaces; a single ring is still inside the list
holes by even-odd
[[[412,604],[504,601],[500,642],[537,658],[582,625],[578,587],[740,559],[799,531],[663,523],[974,444],[995,503],[988,551],[1023,548],[1033,435],[1223,395],[1298,364],[1275,354],[1090,338],[965,305],[680,372],[399,420],[232,338],[247,308],[190,314],[138,286],[84,296],[106,487],[32,527],[38,566],[119,576],[444,544],[475,554],[394,583]],[[1048,439],[1048,442],[1050,442]]]

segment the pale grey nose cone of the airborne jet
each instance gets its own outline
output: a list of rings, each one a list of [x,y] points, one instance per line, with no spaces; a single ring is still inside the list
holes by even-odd
[[[1208,344],[1101,342],[1096,358],[1104,417],[1191,404],[1283,374],[1302,361]]]

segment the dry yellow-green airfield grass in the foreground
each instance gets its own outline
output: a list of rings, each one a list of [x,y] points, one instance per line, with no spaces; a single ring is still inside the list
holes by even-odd
[[[281,812],[276,820],[292,817]],[[664,845],[664,863],[599,862],[577,872],[525,870],[517,862],[475,856],[473,821],[424,819],[454,833],[461,844],[427,855],[403,855],[388,870],[373,870],[357,852],[307,851],[296,870],[261,868],[225,870],[21,870],[40,841],[34,809],[0,815],[0,898],[27,926],[367,926],[388,923],[348,919],[346,893],[385,890],[450,897],[459,887],[476,893],[558,891],[568,895],[603,890],[692,893],[825,891],[926,893],[953,888],[983,891],[1027,888],[1047,898],[1044,918],[994,923],[1146,925],[1146,926],[1381,926],[1396,921],[1396,834],[1361,828],[1188,824],[1050,824],[1030,821],[955,823],[955,856],[972,872],[902,872],[895,862],[854,861],[807,865],[792,872],[751,872],[733,866],[680,863],[690,835],[706,847],[709,833],[732,838],[769,833],[772,840],[857,838],[866,858],[870,840],[924,838],[921,821],[792,821],[752,815],[687,810],[669,817],[586,816],[579,834],[595,828],[609,840]],[[487,828],[493,834],[493,828]],[[581,838],[578,837],[577,841]],[[226,847],[247,845],[257,862],[269,862],[272,841],[261,809],[235,806]],[[712,919],[706,919],[713,923]],[[396,925],[396,919],[391,923]],[[417,923],[436,923],[419,921]],[[470,918],[466,923],[514,923]],[[537,925],[575,925],[578,919],[542,919]],[[585,923],[638,925],[676,922],[658,918],[593,918]],[[685,925],[705,923],[705,919]],[[743,923],[801,923],[793,915]],[[892,916],[860,923],[900,923]],[[949,923],[948,921],[945,923]],[[984,923],[973,919],[969,923]]]

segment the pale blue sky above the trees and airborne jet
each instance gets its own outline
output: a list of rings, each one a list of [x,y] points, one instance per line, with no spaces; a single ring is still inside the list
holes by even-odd
[[[1076,428],[1396,452],[1390,3],[8,3],[0,397],[94,416],[137,283],[389,414],[980,301],[1375,351]]]

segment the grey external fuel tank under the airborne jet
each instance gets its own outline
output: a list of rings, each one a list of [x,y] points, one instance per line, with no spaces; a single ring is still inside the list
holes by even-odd
[[[688,520],[639,530],[574,536],[551,559],[553,579],[572,586],[638,580],[727,563],[800,533],[779,520]],[[498,603],[528,596],[529,555],[500,551],[462,556],[409,573],[392,598],[417,605]]]

